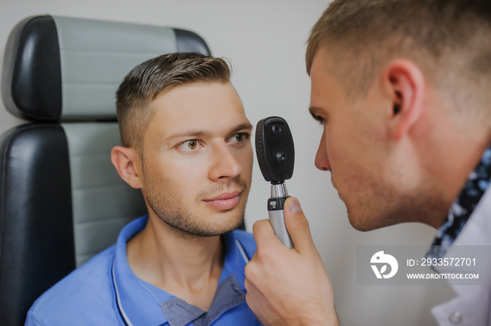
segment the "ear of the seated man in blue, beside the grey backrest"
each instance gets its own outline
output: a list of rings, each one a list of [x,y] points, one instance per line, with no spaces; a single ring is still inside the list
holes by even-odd
[[[119,176],[135,189],[142,187],[140,179],[140,156],[134,149],[115,146],[111,151],[111,161]]]

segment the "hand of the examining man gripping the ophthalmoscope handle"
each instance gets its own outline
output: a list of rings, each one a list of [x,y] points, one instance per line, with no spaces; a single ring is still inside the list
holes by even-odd
[[[294,249],[276,238],[267,219],[254,224],[257,251],[245,266],[247,304],[265,326],[339,325],[328,273],[296,198],[285,201],[284,215]]]

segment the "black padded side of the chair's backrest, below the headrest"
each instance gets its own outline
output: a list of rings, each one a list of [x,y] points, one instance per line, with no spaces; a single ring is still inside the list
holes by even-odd
[[[65,132],[22,125],[1,137],[0,154],[0,325],[23,325],[34,300],[75,267]]]

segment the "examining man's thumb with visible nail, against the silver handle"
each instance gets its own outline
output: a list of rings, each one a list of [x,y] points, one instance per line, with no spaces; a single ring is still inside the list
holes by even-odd
[[[304,215],[300,202],[297,198],[290,197],[285,201],[285,208],[285,225],[295,250],[298,252],[309,250],[314,246],[314,241],[310,233],[309,221]]]

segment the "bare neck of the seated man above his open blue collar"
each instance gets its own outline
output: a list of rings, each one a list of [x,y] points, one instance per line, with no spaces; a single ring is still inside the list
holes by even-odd
[[[184,234],[149,216],[147,226],[127,244],[136,276],[208,311],[223,267],[220,236]]]

